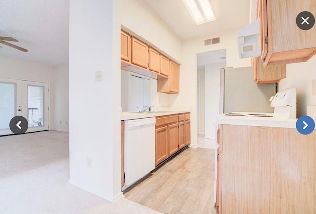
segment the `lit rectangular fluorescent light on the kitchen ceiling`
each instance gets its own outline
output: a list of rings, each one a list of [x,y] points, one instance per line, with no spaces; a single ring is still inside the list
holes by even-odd
[[[197,25],[214,21],[215,15],[208,0],[182,0]]]

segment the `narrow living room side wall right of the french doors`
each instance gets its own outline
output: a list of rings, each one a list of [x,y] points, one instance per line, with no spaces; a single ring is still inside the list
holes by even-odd
[[[68,132],[68,63],[54,67],[54,130]]]

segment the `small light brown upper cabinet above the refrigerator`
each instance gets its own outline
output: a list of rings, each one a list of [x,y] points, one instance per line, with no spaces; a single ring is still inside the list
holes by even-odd
[[[286,78],[286,65],[263,66],[260,57],[252,58],[252,60],[256,83],[275,83]]]

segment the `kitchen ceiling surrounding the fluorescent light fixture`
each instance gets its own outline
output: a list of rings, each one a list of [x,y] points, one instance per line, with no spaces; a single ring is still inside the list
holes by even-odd
[[[249,24],[251,0],[209,0],[216,20],[197,25],[182,0],[143,0],[182,40]]]

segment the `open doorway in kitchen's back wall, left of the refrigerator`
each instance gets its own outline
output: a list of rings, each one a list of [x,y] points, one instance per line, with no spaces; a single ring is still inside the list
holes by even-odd
[[[211,147],[215,139],[215,116],[220,114],[220,68],[226,67],[226,50],[197,54],[197,145]],[[209,141],[212,140],[212,141]],[[204,145],[203,145],[204,146]]]

